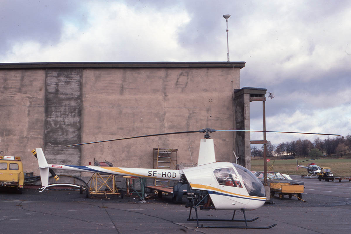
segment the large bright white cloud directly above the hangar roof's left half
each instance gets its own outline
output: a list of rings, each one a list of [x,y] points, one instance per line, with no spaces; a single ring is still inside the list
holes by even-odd
[[[190,21],[186,11],[171,8],[139,12],[117,2],[90,2],[87,25],[64,22],[59,43],[40,46],[19,42],[3,62],[57,61],[182,61],[186,51],[177,42],[177,29]],[[32,45],[32,46],[31,46]]]

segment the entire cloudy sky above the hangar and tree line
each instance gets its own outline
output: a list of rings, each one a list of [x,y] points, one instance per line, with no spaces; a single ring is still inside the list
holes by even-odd
[[[240,86],[275,95],[267,130],[351,134],[351,1],[0,3],[1,63],[227,61],[229,13],[230,61],[246,62]],[[261,102],[251,129],[262,130]],[[267,133],[276,145],[316,137]]]

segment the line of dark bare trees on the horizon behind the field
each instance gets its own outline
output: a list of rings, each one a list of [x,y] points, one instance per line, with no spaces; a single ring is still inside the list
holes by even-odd
[[[351,153],[351,135],[337,136],[321,140],[314,139],[313,143],[307,139],[283,142],[277,146],[267,141],[267,156],[291,156],[291,157],[321,157],[323,155],[337,155],[343,157]],[[251,157],[263,157],[263,145],[261,149],[251,146]]]

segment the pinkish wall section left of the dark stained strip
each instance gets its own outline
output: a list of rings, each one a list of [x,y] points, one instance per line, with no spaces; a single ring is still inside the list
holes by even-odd
[[[38,163],[31,153],[44,146],[45,70],[0,70],[0,155],[19,156],[24,170]]]

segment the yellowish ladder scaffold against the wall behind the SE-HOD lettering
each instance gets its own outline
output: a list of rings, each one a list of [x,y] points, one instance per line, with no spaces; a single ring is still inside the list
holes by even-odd
[[[153,149],[153,162],[155,169],[176,169],[178,149]],[[155,179],[154,186],[169,186],[169,180]]]

